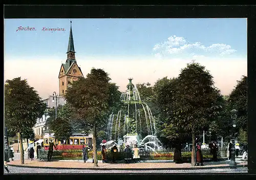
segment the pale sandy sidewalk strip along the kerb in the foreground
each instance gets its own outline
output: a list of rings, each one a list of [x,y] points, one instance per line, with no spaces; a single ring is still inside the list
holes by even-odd
[[[191,166],[190,163],[175,164],[169,163],[136,163],[136,164],[124,164],[124,163],[102,163],[98,161],[98,167],[93,167],[93,163],[83,163],[79,161],[31,161],[25,160],[25,164],[21,165],[20,160],[14,160],[8,163],[10,166],[18,167],[30,167],[30,168],[55,168],[55,169],[93,169],[93,170],[165,170],[165,169],[216,169],[216,168],[230,168],[230,161],[221,162],[205,162],[204,166]],[[237,167],[247,167],[247,162],[240,161],[238,159]]]

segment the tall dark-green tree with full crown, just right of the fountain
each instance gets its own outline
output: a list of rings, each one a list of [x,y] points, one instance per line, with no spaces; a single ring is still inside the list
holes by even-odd
[[[212,78],[204,66],[193,61],[158,94],[162,111],[167,118],[166,123],[176,128],[171,132],[179,134],[178,137],[184,132],[192,135],[192,165],[195,165],[196,135],[216,118],[221,109],[218,105],[220,91],[214,86]]]

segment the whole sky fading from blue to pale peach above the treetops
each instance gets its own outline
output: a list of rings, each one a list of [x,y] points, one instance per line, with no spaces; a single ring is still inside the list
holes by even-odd
[[[58,92],[70,20],[83,75],[101,68],[120,91],[129,77],[152,85],[177,77],[191,60],[209,70],[223,95],[247,75],[246,18],[4,19],[4,79],[27,79],[43,99]]]

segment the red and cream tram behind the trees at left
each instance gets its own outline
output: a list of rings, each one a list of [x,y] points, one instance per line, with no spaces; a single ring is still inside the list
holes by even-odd
[[[56,146],[54,148],[55,150],[61,150],[61,149],[82,149],[82,145],[88,144],[88,146],[92,149],[93,148],[93,135],[89,134],[88,136],[86,134],[80,134],[80,133],[74,133],[72,136],[64,141],[58,141],[54,133],[45,133],[44,135],[44,147],[45,150],[49,149],[50,142],[53,142]]]

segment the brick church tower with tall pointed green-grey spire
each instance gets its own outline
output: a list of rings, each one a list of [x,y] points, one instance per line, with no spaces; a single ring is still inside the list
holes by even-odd
[[[75,58],[74,40],[72,34],[72,21],[70,21],[69,45],[66,63],[62,63],[59,70],[59,96],[66,94],[72,81],[76,81],[79,76],[83,77],[80,67]]]

